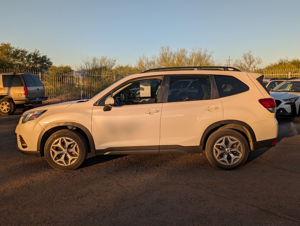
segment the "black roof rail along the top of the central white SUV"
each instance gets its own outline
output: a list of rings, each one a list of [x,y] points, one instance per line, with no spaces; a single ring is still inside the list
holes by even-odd
[[[222,66],[191,66],[191,67],[172,67],[172,68],[153,68],[141,73],[157,72],[157,71],[202,71],[202,70],[214,70],[214,71],[240,71],[233,67],[222,67]]]

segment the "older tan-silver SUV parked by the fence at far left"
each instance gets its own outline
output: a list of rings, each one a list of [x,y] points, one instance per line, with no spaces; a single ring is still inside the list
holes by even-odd
[[[0,114],[11,115],[16,108],[31,109],[47,100],[41,80],[34,74],[0,74]]]

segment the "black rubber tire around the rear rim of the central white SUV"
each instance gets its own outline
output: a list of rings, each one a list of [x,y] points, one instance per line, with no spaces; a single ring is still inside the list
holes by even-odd
[[[214,145],[215,143],[220,140],[222,137],[226,137],[226,136],[230,136],[230,137],[234,137],[235,139],[237,139],[239,141],[239,143],[241,144],[241,150],[242,150],[242,155],[239,159],[236,159],[236,161],[233,159],[233,164],[228,164],[226,165],[225,161],[222,161],[222,163],[220,163],[220,161],[217,160],[217,158],[215,157],[215,153],[217,155],[216,150],[214,149]],[[226,140],[226,139],[225,139]],[[229,147],[230,148],[230,147]],[[230,151],[230,150],[227,150]],[[245,163],[245,161],[248,158],[248,153],[249,153],[249,146],[247,143],[247,140],[245,139],[245,137],[240,134],[239,132],[232,130],[232,129],[218,129],[217,131],[213,132],[209,137],[208,140],[206,142],[206,148],[205,148],[205,153],[206,153],[206,157],[208,159],[208,161],[217,168],[221,168],[221,169],[234,169],[237,167],[240,167],[241,165],[243,165]],[[228,157],[226,157],[228,155]],[[230,161],[231,163],[231,155],[237,155],[239,156],[239,154],[237,152],[229,152],[229,153],[222,153],[221,155],[219,155],[219,159],[221,157],[226,157],[228,162]]]

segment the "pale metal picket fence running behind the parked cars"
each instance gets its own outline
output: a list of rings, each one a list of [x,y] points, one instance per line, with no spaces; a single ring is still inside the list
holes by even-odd
[[[37,75],[45,86],[46,102],[58,103],[95,96],[116,81],[138,71],[45,71],[41,69],[1,69],[0,73],[21,72]],[[300,77],[300,69],[256,70],[265,78]]]

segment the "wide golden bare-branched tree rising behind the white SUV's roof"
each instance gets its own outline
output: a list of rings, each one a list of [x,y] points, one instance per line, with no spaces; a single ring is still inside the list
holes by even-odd
[[[141,56],[135,67],[144,71],[150,68],[214,66],[216,62],[212,53],[202,48],[193,48],[191,51],[182,48],[173,51],[170,46],[162,46],[158,55],[150,58]]]

